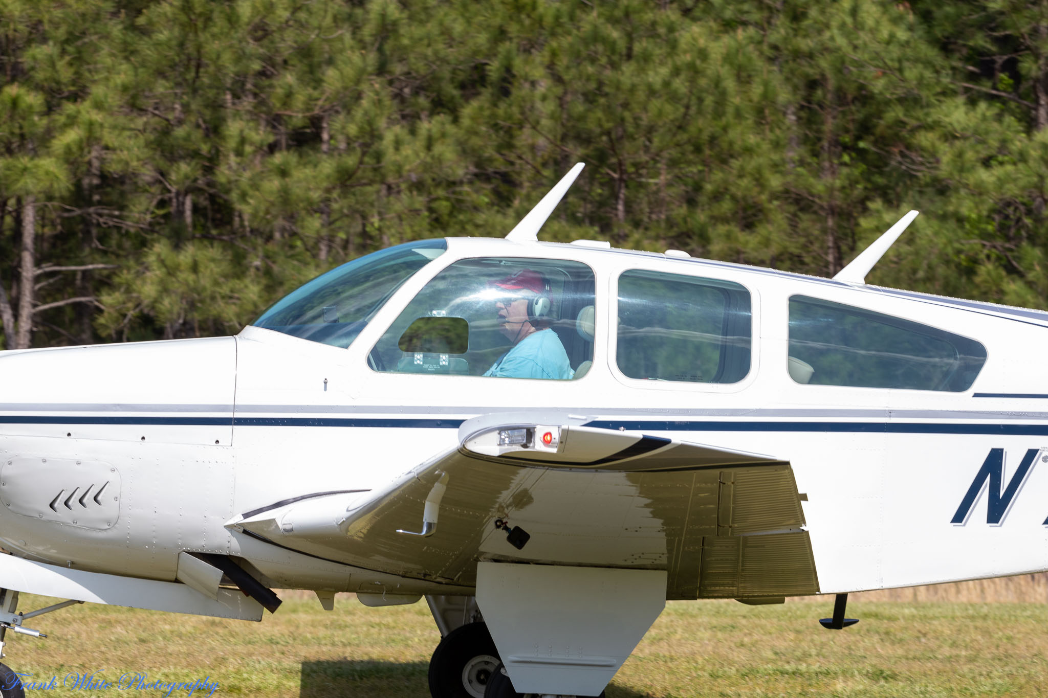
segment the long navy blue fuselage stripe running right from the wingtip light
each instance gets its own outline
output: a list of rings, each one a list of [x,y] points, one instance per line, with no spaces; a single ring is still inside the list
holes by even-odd
[[[597,420],[583,426],[631,431],[805,431],[894,434],[1048,435],[1048,424],[919,424],[890,422],[625,422]]]

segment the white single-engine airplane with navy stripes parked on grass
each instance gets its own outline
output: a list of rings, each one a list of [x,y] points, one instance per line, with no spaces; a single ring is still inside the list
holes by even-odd
[[[434,698],[595,696],[667,600],[1048,569],[1048,313],[866,285],[916,211],[832,279],[539,242],[581,168],[236,337],[0,354],[0,640],[424,596]]]

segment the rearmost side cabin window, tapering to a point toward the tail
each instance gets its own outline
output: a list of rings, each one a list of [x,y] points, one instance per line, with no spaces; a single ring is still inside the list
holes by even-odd
[[[791,296],[789,374],[798,383],[967,390],[986,361],[979,342],[842,303]]]

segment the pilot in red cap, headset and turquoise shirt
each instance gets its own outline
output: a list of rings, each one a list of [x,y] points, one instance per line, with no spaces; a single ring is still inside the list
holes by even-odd
[[[524,269],[489,284],[502,294],[495,302],[499,332],[509,340],[484,376],[569,380],[574,376],[568,354],[549,328],[549,283],[538,271]]]

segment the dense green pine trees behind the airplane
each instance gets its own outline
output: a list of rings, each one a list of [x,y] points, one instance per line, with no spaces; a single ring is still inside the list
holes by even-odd
[[[38,344],[235,331],[407,240],[543,237],[1048,307],[1048,14],[861,0],[0,0],[0,284]],[[117,268],[101,268],[115,265]],[[73,327],[75,325],[75,327]]]

